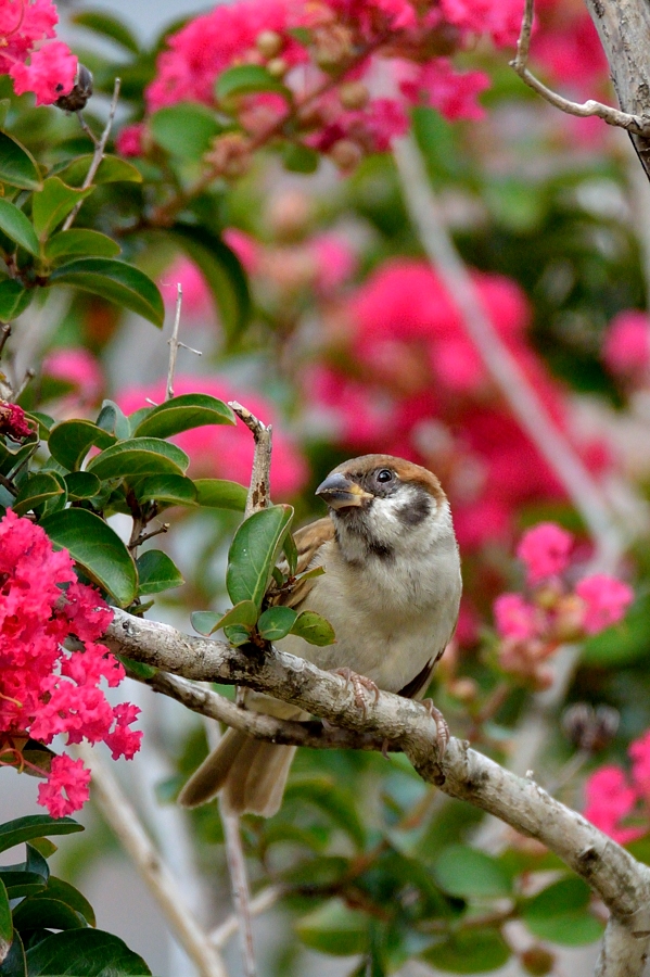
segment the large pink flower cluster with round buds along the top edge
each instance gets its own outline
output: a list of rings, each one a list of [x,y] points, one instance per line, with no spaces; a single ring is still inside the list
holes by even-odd
[[[348,170],[406,131],[412,104],[432,105],[450,119],[481,117],[476,96],[487,87],[487,76],[457,73],[449,55],[477,33],[514,45],[520,5],[518,0],[219,4],[167,38],[146,90],[148,110],[197,101],[232,116],[240,134],[217,138],[209,153],[220,175],[239,175],[248,149],[280,135],[289,117],[294,147],[329,154]],[[219,100],[216,80],[239,65],[267,68],[275,88]],[[128,154],[145,144],[145,130],[133,126],[118,142]]]

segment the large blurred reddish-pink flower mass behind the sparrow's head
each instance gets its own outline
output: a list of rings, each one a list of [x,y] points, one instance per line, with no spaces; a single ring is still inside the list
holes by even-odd
[[[481,272],[482,304],[559,428],[569,431],[562,389],[531,348],[525,296],[511,280]],[[337,309],[323,314],[318,363],[305,393],[326,413],[341,446],[385,451],[431,467],[450,496],[467,551],[504,541],[513,515],[562,488],[495,390],[462,316],[424,262],[381,265]],[[603,443],[574,447],[592,470]]]

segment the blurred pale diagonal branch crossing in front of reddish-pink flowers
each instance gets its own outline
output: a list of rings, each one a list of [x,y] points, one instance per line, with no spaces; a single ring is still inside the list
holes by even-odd
[[[611,568],[617,562],[623,546],[599,486],[545,409],[486,315],[444,225],[422,158],[411,138],[399,140],[395,158],[411,219],[430,261],[462,315],[470,339],[514,416],[585,520],[596,542],[600,567]]]

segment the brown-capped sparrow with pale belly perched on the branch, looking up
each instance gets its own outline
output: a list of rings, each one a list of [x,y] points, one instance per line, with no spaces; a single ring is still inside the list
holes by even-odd
[[[269,591],[269,604],[311,610],[332,624],[332,645],[309,645],[286,635],[276,645],[353,681],[360,688],[421,698],[448,645],[462,588],[451,510],[437,478],[391,455],[345,461],[316,490],[329,508],[295,533],[296,573],[324,573]],[[279,719],[308,713],[246,690],[245,705]],[[229,729],[190,777],[179,803],[193,808],[224,790],[233,813],[275,814],[296,747],[276,746]]]

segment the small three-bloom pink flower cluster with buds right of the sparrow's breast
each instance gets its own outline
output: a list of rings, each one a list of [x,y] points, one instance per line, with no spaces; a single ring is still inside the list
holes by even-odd
[[[563,640],[599,634],[623,619],[634,598],[627,584],[604,573],[569,586],[574,541],[552,522],[522,536],[517,555],[526,570],[527,595],[501,594],[494,605],[504,671],[544,688],[552,681],[548,659]]]

